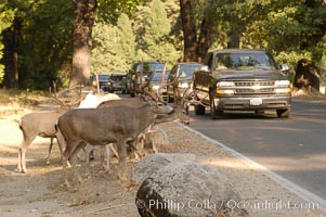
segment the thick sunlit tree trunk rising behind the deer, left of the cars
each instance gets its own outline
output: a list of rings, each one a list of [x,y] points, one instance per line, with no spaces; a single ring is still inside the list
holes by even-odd
[[[73,71],[69,87],[83,85],[90,77],[92,28],[97,0],[75,0]]]

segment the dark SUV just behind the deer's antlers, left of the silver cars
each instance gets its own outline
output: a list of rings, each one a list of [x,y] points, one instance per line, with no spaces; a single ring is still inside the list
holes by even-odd
[[[162,71],[164,62],[158,61],[143,61],[133,64],[130,79],[130,97],[138,93],[143,93],[143,88],[149,82],[154,71]]]

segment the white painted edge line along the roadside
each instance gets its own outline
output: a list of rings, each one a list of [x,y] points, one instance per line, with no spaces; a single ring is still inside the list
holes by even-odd
[[[303,189],[302,187],[283,178],[282,176],[271,171],[270,169],[268,169],[266,167],[258,164],[257,162],[253,162],[252,159],[250,159],[249,157],[236,152],[233,149],[230,149],[229,146],[226,146],[225,144],[218,142],[209,137],[207,137],[206,135],[203,135],[201,132],[192,129],[187,126],[182,125],[179,122],[175,122],[179,126],[184,127],[186,130],[194,132],[196,135],[198,135],[199,137],[201,137],[203,139],[206,139],[210,142],[212,142],[213,144],[222,148],[222,150],[225,150],[226,152],[231,153],[233,156],[238,157],[243,161],[245,161],[246,163],[255,166],[256,168],[259,168],[261,170],[262,174],[266,175],[268,177],[270,177],[272,180],[276,181],[278,184],[281,184],[282,187],[286,188],[287,190],[289,190],[290,192],[295,193],[296,195],[298,195],[299,197],[303,199],[304,201],[309,202],[309,203],[315,203],[320,205],[320,208],[326,213],[326,201],[324,199],[322,199],[321,196]]]

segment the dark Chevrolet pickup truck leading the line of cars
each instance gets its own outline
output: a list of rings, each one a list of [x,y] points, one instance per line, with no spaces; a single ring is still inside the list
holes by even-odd
[[[289,117],[291,89],[273,56],[263,50],[216,50],[207,54],[204,66],[194,73],[193,89],[201,101],[195,114],[210,107],[212,118],[225,111],[276,111]]]

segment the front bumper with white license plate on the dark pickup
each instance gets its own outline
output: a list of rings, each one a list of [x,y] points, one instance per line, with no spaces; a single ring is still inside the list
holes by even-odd
[[[214,98],[219,111],[257,111],[288,108],[291,104],[290,97],[236,97]]]

